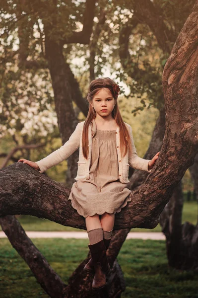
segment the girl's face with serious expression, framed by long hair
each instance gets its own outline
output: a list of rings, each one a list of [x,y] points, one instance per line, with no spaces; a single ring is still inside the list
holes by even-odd
[[[93,97],[91,106],[94,107],[96,114],[102,117],[109,116],[116,104],[116,100],[113,98],[111,91],[108,88],[100,89]]]

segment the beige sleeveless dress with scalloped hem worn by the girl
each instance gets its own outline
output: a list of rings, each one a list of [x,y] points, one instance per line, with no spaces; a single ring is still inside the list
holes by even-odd
[[[91,155],[89,179],[74,182],[68,200],[84,218],[120,212],[132,192],[119,180],[116,130],[96,129]]]

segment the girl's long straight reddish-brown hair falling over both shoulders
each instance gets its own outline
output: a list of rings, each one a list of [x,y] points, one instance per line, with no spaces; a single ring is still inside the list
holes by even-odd
[[[89,91],[87,94],[87,101],[89,103],[89,111],[87,118],[84,123],[82,131],[82,153],[84,157],[88,158],[89,147],[88,147],[88,128],[92,121],[96,117],[96,111],[92,108],[91,102],[93,101],[94,95],[102,88],[108,88],[111,91],[112,96],[116,100],[114,110],[112,111],[112,117],[116,120],[117,125],[120,128],[120,147],[121,147],[121,156],[124,157],[129,149],[132,152],[131,139],[127,126],[125,125],[121,113],[119,111],[117,98],[118,93],[115,92],[113,86],[116,84],[114,80],[109,77],[96,78],[90,82]],[[124,151],[125,150],[125,151]],[[124,154],[123,154],[124,153]]]

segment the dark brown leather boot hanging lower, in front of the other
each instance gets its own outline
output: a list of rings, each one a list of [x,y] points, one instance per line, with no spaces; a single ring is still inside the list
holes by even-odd
[[[109,274],[111,268],[107,260],[106,247],[103,239],[95,244],[88,246],[95,268],[95,276],[93,279],[92,288],[98,290],[105,287],[106,274]]]

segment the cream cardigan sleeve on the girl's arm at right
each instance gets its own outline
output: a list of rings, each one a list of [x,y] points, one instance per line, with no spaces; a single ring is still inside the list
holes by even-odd
[[[151,159],[144,159],[141,158],[137,155],[135,146],[134,146],[134,141],[132,137],[132,127],[130,125],[130,138],[131,138],[131,144],[132,144],[132,154],[129,155],[129,164],[132,168],[137,169],[137,170],[142,170],[146,172],[151,172],[152,169],[148,169],[148,162]]]

